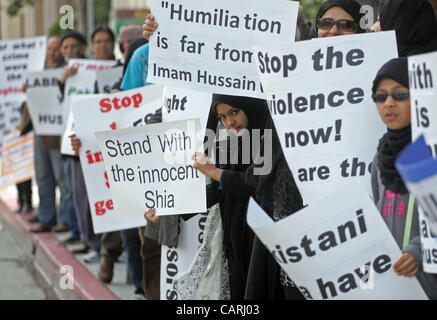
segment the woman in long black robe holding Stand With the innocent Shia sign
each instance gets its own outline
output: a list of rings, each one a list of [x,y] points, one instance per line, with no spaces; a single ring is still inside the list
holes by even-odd
[[[251,158],[250,164],[242,164],[241,153],[237,153],[238,164],[217,167],[208,164],[198,167],[205,175],[215,179],[208,189],[208,206],[217,201],[220,203],[224,246],[227,248],[225,250],[230,266],[231,298],[303,299],[299,290],[293,287],[285,273],[281,272],[270,252],[257,238],[253,240],[253,233],[246,223],[250,196],[275,221],[298,211],[303,206],[266,101],[225,95],[214,95],[213,100],[208,127],[216,130],[219,120],[226,129],[233,131],[231,134],[239,134],[240,127],[244,127],[244,120],[232,122],[226,118],[239,109],[239,112],[247,115],[249,135],[253,135],[254,129],[261,130],[261,145],[258,150],[251,150],[254,152],[251,154],[262,156],[264,159],[269,157],[269,160],[264,162]],[[265,130],[271,130],[272,139],[268,138]],[[265,144],[272,146],[271,154],[263,154]],[[232,153],[232,150],[228,151]],[[270,166],[271,170],[262,175],[255,174],[256,169],[265,166]]]

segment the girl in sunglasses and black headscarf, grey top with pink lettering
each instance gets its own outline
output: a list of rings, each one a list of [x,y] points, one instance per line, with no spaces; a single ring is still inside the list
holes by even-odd
[[[417,276],[428,297],[437,299],[437,276],[422,271],[417,203],[395,167],[396,158],[411,142],[408,60],[396,58],[382,66],[372,92],[387,125],[372,162],[373,201],[403,252],[393,269],[399,276]]]

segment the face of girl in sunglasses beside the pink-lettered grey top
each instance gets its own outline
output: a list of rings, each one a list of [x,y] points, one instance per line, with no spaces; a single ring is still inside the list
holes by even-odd
[[[400,101],[396,101],[393,96],[389,95],[393,93],[397,94],[397,100]],[[379,98],[376,105],[379,116],[389,129],[399,130],[410,125],[410,98],[407,93],[409,90],[395,80],[385,78],[379,83],[375,94],[375,97]],[[382,101],[384,97],[386,99]]]

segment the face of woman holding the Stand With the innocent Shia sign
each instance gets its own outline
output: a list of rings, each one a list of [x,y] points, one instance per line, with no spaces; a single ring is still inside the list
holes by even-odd
[[[243,134],[243,129],[249,126],[249,119],[242,109],[232,107],[225,103],[219,103],[216,107],[217,115],[223,126],[237,136]]]

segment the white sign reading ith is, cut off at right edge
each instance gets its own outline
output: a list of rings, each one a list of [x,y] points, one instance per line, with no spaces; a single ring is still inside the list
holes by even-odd
[[[411,130],[416,140],[424,134],[437,156],[437,52],[408,57],[411,96]]]

